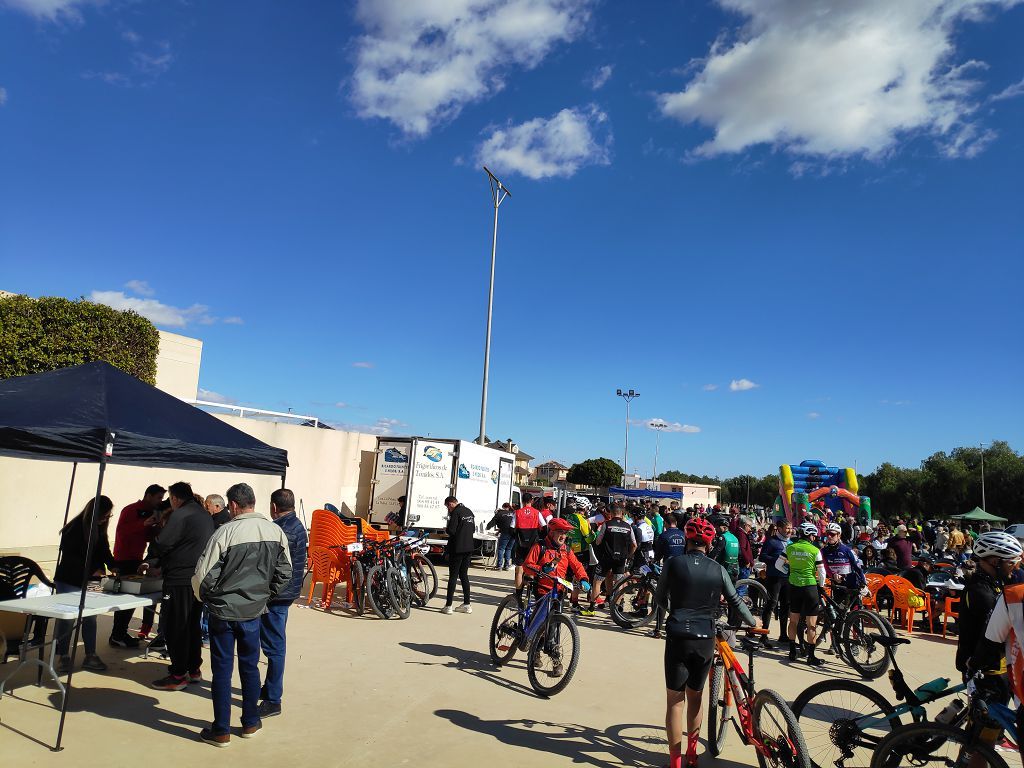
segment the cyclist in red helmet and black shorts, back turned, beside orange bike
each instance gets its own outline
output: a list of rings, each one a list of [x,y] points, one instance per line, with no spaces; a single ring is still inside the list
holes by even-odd
[[[702,691],[715,657],[715,615],[724,596],[744,624],[756,627],[751,611],[721,565],[708,557],[715,527],[694,517],[684,528],[686,552],[665,563],[655,600],[669,613],[665,642],[665,730],[670,768],[695,766]],[[683,762],[683,702],[686,702],[686,755]]]

